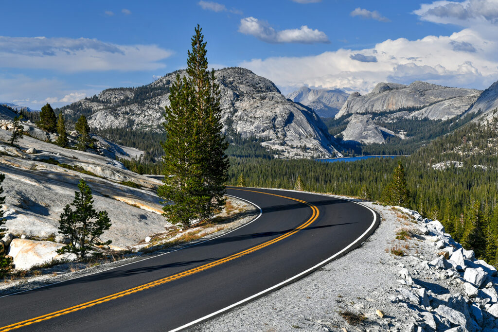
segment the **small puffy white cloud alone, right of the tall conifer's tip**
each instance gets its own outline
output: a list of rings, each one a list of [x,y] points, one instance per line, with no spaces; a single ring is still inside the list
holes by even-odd
[[[241,19],[239,32],[252,35],[268,43],[330,43],[325,32],[303,25],[299,29],[276,31],[268,22],[252,16]]]

